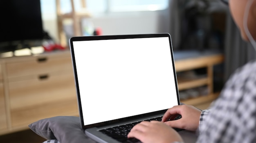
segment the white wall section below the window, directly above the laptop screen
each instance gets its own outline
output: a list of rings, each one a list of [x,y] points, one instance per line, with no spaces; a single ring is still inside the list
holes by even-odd
[[[103,35],[168,32],[168,28],[161,29],[164,20],[163,11],[117,13],[91,20],[94,26],[102,28]]]

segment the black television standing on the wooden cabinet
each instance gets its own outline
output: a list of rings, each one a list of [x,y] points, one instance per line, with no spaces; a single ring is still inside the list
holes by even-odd
[[[0,18],[0,52],[43,39],[40,0],[0,0]]]

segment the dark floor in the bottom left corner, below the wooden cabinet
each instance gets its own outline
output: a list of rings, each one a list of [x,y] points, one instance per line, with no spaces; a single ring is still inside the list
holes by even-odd
[[[46,139],[38,136],[32,130],[25,130],[0,136],[0,143],[43,143]]]

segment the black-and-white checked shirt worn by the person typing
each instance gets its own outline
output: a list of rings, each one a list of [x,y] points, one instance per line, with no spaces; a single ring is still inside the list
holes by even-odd
[[[236,70],[200,117],[198,143],[256,143],[256,61]]]

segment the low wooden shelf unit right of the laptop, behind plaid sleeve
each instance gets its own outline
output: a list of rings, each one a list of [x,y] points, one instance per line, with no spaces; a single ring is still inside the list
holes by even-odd
[[[189,98],[188,100],[181,100],[181,102],[184,104],[196,106],[215,100],[219,93],[213,92],[213,66],[223,63],[223,61],[224,56],[222,54],[213,54],[176,60],[175,68],[177,73],[199,68],[207,69],[207,77],[205,78],[184,80],[177,77],[179,91],[192,89],[195,87],[207,86],[209,92],[208,95],[199,96],[197,98]]]

